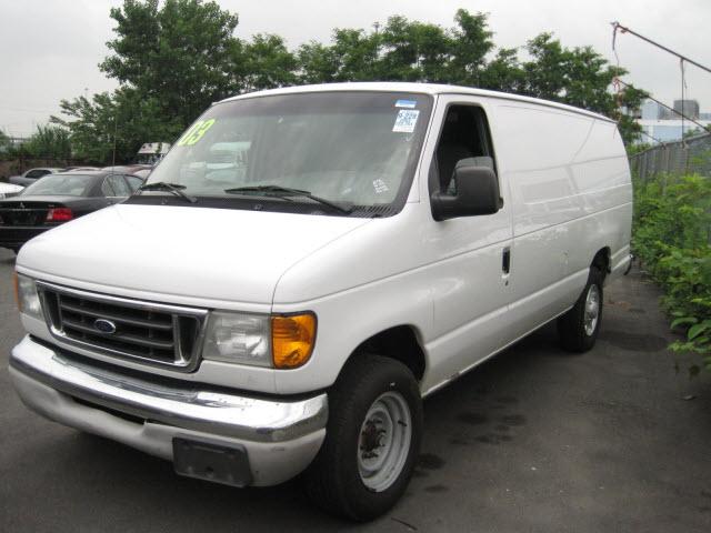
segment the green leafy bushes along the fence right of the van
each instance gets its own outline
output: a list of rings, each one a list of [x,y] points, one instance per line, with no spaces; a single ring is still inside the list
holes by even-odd
[[[695,352],[711,370],[711,180],[660,175],[637,183],[633,247],[665,295],[662,304],[683,328],[672,344]]]

